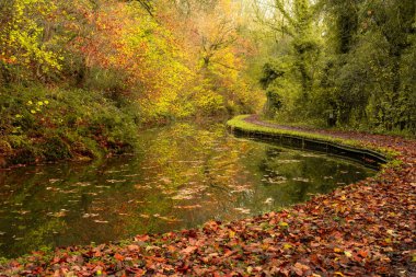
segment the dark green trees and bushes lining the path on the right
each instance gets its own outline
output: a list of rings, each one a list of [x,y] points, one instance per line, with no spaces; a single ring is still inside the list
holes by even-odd
[[[414,1],[293,1],[276,11],[287,22],[274,32],[290,43],[278,42],[286,50],[261,79],[269,116],[325,123],[334,114],[338,127],[416,132]]]

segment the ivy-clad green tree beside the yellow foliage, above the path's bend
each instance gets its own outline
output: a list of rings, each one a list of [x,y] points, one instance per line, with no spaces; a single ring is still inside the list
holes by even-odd
[[[290,109],[296,105],[293,102],[301,106],[308,104],[316,81],[320,55],[320,28],[314,23],[314,5],[308,0],[257,3],[261,22],[269,26],[276,37],[280,34],[277,41],[279,55],[266,64],[262,78],[263,84],[269,89],[269,105]],[[262,8],[265,3],[266,8]],[[273,103],[275,100],[278,102]]]

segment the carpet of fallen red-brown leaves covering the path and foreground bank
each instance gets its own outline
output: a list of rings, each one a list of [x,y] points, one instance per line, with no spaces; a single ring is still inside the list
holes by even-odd
[[[395,149],[402,164],[279,212],[33,253],[0,276],[416,276],[416,141],[320,132]]]

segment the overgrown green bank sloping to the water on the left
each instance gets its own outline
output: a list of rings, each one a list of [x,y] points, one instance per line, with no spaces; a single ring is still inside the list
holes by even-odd
[[[97,91],[45,86],[0,90],[0,168],[89,160],[134,149],[134,103]]]

